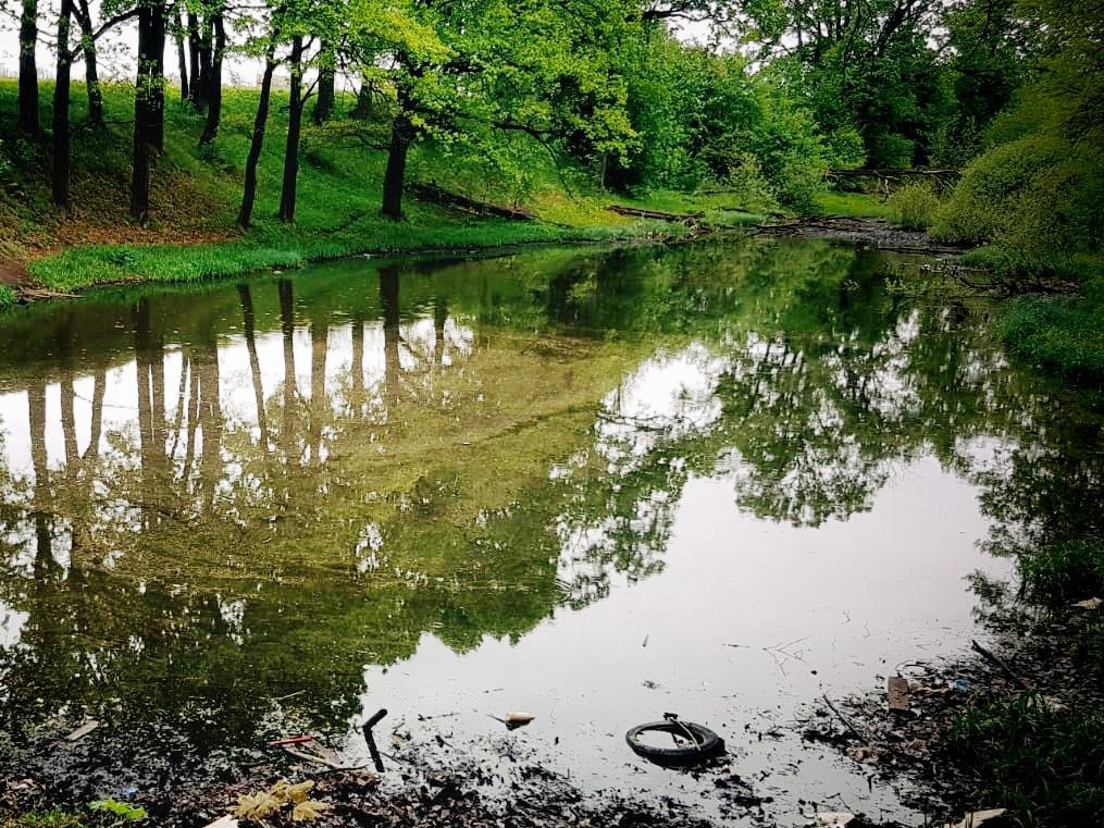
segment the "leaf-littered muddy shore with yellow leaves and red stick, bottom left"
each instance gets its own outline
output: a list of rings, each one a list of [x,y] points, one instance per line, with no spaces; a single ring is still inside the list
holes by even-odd
[[[64,736],[43,737],[7,755],[0,765],[0,824],[7,817],[57,807],[88,815],[89,803],[110,798],[142,808],[149,822],[140,824],[204,828],[227,815],[242,816],[251,803],[267,796],[280,799],[285,783],[309,792],[304,795],[318,811],[309,824],[317,826],[710,828],[739,824],[788,828],[827,825],[818,821],[817,814],[830,813],[829,806],[810,802],[788,818],[768,816],[764,806],[772,798],[757,794],[752,781],[734,773],[725,755],[693,768],[671,771],[712,779],[720,814],[709,819],[670,796],[641,797],[618,788],[584,793],[572,779],[510,747],[503,747],[495,765],[481,764],[459,752],[442,762],[436,747],[448,742],[439,735],[437,745],[388,740],[381,756],[382,773],[302,758],[325,754],[321,744],[314,750],[269,746],[201,758],[180,750],[183,742],[174,734],[158,734],[162,741],[157,745],[146,742],[147,735],[131,734],[128,739],[116,732],[99,740],[82,737],[76,743],[67,743]],[[291,818],[290,800],[273,803],[273,809],[264,818],[243,817],[241,825],[273,828],[301,824]],[[86,822],[98,825],[94,815]],[[861,817],[848,825],[901,828],[898,822]]]

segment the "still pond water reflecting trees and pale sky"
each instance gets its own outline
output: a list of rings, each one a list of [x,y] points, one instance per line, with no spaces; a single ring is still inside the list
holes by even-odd
[[[962,651],[967,576],[1086,520],[1101,417],[885,265],[360,259],[4,317],[6,739],[89,714],[360,764],[386,707],[445,758],[697,802],[624,743],[675,710],[779,814],[907,816],[794,722]]]

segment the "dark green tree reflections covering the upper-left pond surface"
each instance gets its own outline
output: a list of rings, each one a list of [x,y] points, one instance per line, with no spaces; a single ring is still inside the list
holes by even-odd
[[[933,454],[995,543],[1098,532],[1100,413],[1008,364],[984,307],[887,297],[881,264],[818,243],[344,263],[13,318],[3,726],[118,699],[244,741],[293,689],[328,726],[423,633],[517,639],[660,571],[693,477],[816,527]]]

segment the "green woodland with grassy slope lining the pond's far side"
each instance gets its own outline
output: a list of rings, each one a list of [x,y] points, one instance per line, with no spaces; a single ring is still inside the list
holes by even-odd
[[[857,180],[848,171],[935,170],[899,178],[912,183],[888,214],[986,245],[968,264],[1080,283],[1074,300],[1019,302],[1009,325],[1016,341],[1042,331],[1033,357],[1104,367],[1098,0],[3,0],[0,12],[22,44],[18,82],[0,83],[0,258],[31,262],[50,287],[654,232],[611,201],[746,222],[816,212]],[[680,39],[688,24],[712,44]],[[119,26],[137,26],[138,68],[105,84],[97,44]],[[43,49],[53,82],[40,81]],[[227,84],[231,56],[262,67],[259,89]],[[501,216],[457,219],[457,199]]]

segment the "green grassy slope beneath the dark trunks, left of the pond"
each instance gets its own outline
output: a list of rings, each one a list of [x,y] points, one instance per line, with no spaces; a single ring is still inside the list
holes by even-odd
[[[43,85],[43,124],[49,125],[51,88]],[[11,135],[15,89],[0,81],[0,135]],[[273,216],[279,199],[286,97],[277,95],[259,166],[255,226],[242,234],[234,226],[248,149],[256,93],[229,89],[213,151],[201,152],[197,139],[202,119],[170,92],[166,112],[166,152],[153,171],[152,222],[130,223],[127,187],[130,172],[130,93],[106,88],[109,130],[82,129],[86,119],[84,88],[74,85],[73,120],[78,131],[73,149],[73,213],[63,216],[50,203],[49,140],[7,139],[0,167],[0,263],[30,263],[36,280],[50,288],[73,289],[127,279],[190,280],[265,267],[287,267],[308,259],[369,252],[460,250],[499,245],[627,238],[673,225],[655,225],[616,216],[601,194],[580,194],[564,185],[546,157],[533,152],[533,182],[524,203],[541,221],[479,219],[432,204],[406,200],[407,221],[379,215],[384,153],[350,134],[351,121],[315,128],[302,141],[296,223]],[[340,102],[341,107],[351,99]],[[355,129],[379,138],[385,124]],[[412,153],[410,180],[435,181],[476,198],[508,202],[517,193],[497,185],[493,173],[470,159],[448,158],[434,149]],[[731,204],[735,199],[729,198]],[[0,297],[2,301],[3,297]]]

